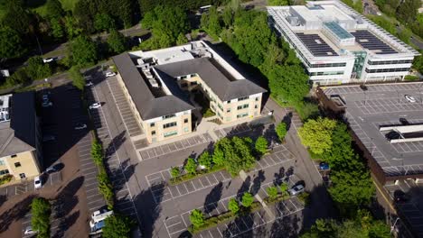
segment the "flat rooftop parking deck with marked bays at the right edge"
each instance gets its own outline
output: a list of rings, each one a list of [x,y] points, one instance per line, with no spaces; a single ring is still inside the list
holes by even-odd
[[[380,165],[385,177],[423,175],[423,142],[390,143],[385,126],[423,124],[423,83],[322,87],[344,102],[344,118]],[[406,95],[413,96],[415,103]]]

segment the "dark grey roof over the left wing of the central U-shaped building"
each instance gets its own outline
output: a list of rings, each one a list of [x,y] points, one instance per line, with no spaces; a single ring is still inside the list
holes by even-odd
[[[127,53],[113,57],[113,61],[143,120],[194,109],[176,95],[155,97]]]

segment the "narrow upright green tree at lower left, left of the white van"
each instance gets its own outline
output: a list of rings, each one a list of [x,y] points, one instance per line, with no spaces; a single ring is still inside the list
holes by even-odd
[[[31,204],[31,225],[37,231],[37,237],[50,237],[50,214],[52,206],[43,197],[33,198]]]

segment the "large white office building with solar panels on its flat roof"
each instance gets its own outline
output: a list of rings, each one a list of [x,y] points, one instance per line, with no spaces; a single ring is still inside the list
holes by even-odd
[[[269,6],[268,15],[314,83],[402,80],[418,55],[341,1]]]

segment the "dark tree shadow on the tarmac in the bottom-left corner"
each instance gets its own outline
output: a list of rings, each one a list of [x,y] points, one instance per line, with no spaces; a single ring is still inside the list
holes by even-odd
[[[6,210],[0,215],[0,224],[2,224],[0,225],[0,233],[5,232],[10,224],[21,219],[30,211],[31,202],[34,197],[34,195],[25,197],[22,201],[16,203],[14,207]]]

